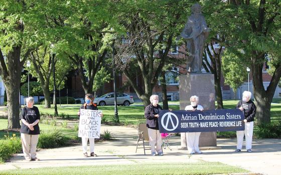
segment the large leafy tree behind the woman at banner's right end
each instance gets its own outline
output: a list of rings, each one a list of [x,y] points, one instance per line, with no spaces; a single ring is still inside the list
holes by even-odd
[[[281,76],[281,1],[204,0],[207,22],[227,48],[242,51],[244,66],[251,69],[258,123],[270,122],[270,104]],[[262,79],[265,55],[274,53],[275,69],[269,85]],[[244,68],[244,67],[243,67]]]

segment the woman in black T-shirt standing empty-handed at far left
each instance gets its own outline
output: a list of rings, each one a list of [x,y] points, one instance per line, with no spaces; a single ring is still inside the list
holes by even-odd
[[[40,121],[40,112],[34,106],[34,99],[32,96],[26,98],[27,105],[21,112],[21,139],[23,145],[23,152],[27,161],[36,160],[36,147],[40,134],[38,122]]]

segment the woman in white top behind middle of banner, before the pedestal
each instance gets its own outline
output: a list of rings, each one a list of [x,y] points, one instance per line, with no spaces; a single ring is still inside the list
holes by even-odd
[[[185,107],[185,110],[203,110],[202,105],[198,104],[199,97],[194,95],[190,97],[190,104]],[[190,154],[202,153],[202,151],[199,149],[199,136],[201,132],[186,132],[187,137],[187,149]]]

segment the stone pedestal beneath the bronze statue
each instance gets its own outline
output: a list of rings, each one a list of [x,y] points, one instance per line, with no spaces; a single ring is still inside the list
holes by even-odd
[[[180,76],[180,109],[190,105],[192,95],[199,96],[199,104],[204,109],[215,109],[215,85],[214,75],[210,73],[186,74]],[[216,132],[201,132],[199,146],[216,146]],[[181,146],[187,148],[186,134],[181,134]]]

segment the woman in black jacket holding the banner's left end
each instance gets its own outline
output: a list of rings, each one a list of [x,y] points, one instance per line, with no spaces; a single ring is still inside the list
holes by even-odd
[[[159,132],[159,124],[158,124],[158,117],[159,112],[162,110],[162,107],[158,104],[159,97],[158,95],[151,95],[150,96],[151,104],[148,105],[145,109],[145,117],[147,118],[147,127],[149,132],[150,138],[150,145],[151,145],[151,154],[152,155],[163,155],[162,147],[161,147],[161,134]],[[156,144],[156,150],[155,150]]]

